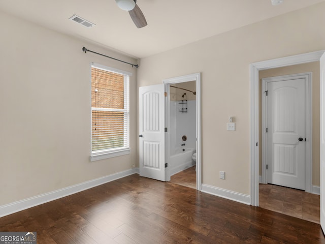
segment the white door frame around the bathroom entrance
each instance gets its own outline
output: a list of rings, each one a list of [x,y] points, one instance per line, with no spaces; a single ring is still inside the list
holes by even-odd
[[[197,190],[201,191],[201,164],[202,164],[202,156],[201,156],[201,73],[194,73],[184,76],[173,77],[169,79],[164,79],[163,83],[165,84],[165,92],[167,92],[166,97],[166,107],[165,107],[165,125],[167,128],[170,128],[170,85],[183,83],[188,81],[195,81],[196,82],[196,131],[197,131]],[[170,130],[167,131],[167,138],[166,138],[166,162],[169,163],[170,159]],[[170,170],[167,167],[166,170],[166,180],[171,180]]]

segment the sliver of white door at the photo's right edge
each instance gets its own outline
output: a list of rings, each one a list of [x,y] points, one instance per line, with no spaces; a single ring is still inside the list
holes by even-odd
[[[320,58],[320,226],[325,232],[325,53]]]

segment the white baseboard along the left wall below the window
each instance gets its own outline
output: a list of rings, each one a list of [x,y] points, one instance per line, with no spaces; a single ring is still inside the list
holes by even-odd
[[[133,169],[129,169],[129,170],[125,170],[125,171],[121,171],[115,174],[111,174],[111,175],[107,175],[101,178],[97,178],[97,179],[92,179],[71,187],[66,187],[66,188],[62,188],[53,192],[49,192],[49,193],[45,193],[39,196],[35,196],[35,197],[30,197],[21,201],[17,201],[17,202],[13,202],[10,204],[6,204],[3,206],[0,206],[0,217],[4,217],[7,215],[11,215],[14,212],[18,212],[30,207],[34,207],[46,202],[50,202],[62,197],[66,197],[72,194],[75,194],[77,192],[81,192],[84,190],[87,190],[89,188],[93,188],[96,186],[100,186],[102,184],[105,184],[107,182],[128,176],[128,175],[132,175],[135,173],[139,173],[139,168],[133,168]]]

